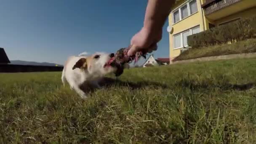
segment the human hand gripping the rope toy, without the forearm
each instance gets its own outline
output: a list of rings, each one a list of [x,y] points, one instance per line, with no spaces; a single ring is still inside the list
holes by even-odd
[[[162,39],[163,30],[151,30],[143,27],[131,39],[131,49],[128,51],[128,56],[135,55],[136,52],[152,53],[157,50],[157,43]]]

